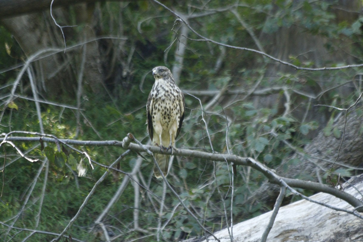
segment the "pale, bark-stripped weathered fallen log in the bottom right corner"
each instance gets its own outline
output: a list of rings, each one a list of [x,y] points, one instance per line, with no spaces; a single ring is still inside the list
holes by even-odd
[[[363,175],[355,177],[349,182],[354,187],[346,184],[344,191],[362,200],[362,194],[359,192],[363,193]],[[347,202],[326,193],[318,193],[310,198],[337,208],[354,210]],[[272,211],[234,225],[234,241],[261,241],[271,214]],[[238,218],[234,217],[234,221],[236,220],[238,221]],[[216,232],[215,236],[220,239],[220,242],[231,242],[227,229]],[[363,239],[363,220],[352,214],[338,212],[306,200],[300,200],[280,208],[267,241],[345,242],[358,239]],[[200,241],[205,242],[205,240]],[[209,237],[209,242],[215,241]]]

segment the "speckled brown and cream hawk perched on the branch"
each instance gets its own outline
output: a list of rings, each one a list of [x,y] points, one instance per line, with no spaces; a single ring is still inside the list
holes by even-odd
[[[178,137],[181,124],[184,119],[185,102],[184,95],[175,84],[173,75],[165,66],[157,66],[152,69],[155,78],[154,86],[147,99],[147,128],[152,145],[161,149],[173,150],[175,139]],[[168,173],[169,156],[155,154],[155,160],[164,173]],[[154,164],[154,175],[162,177]]]

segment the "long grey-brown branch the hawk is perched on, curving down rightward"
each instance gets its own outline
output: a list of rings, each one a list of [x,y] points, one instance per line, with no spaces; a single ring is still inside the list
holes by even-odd
[[[41,134],[38,134],[39,136],[42,136]],[[4,138],[0,139],[0,142],[3,141]],[[8,141],[28,141],[28,142],[34,142],[39,141],[38,137],[19,137],[19,136],[9,136],[6,138]],[[135,152],[144,152],[145,148],[150,150],[152,153],[163,153],[167,155],[172,155],[171,150],[166,151],[160,149],[158,146],[153,145],[139,145],[135,143],[131,143],[132,141],[132,135],[128,134],[123,141],[118,140],[106,140],[106,141],[90,141],[90,140],[72,140],[72,139],[57,139],[57,138],[49,138],[49,137],[43,137],[42,141],[48,142],[48,143],[63,143],[68,145],[81,145],[81,146],[118,146],[123,147],[124,149],[130,149],[131,151]],[[294,188],[302,188],[311,190],[314,192],[324,192],[331,194],[335,197],[338,197],[346,202],[348,202],[350,205],[352,205],[354,208],[358,208],[358,212],[363,212],[363,203],[355,198],[354,196],[351,196],[348,193],[343,192],[342,190],[339,190],[337,188],[320,184],[318,182],[311,182],[311,181],[303,181],[299,179],[289,179],[275,174],[274,171],[268,167],[266,167],[264,164],[259,163],[255,161],[254,159],[250,157],[240,157],[237,155],[228,155],[228,154],[221,154],[221,153],[209,153],[209,152],[203,152],[203,151],[196,151],[191,149],[173,149],[173,155],[176,156],[184,156],[184,157],[194,157],[199,158],[207,161],[228,161],[233,162],[236,165],[244,165],[252,167],[253,169],[260,171],[264,176],[266,176],[269,179],[269,182],[277,185],[281,185],[281,181],[285,182],[287,185],[294,187]]]

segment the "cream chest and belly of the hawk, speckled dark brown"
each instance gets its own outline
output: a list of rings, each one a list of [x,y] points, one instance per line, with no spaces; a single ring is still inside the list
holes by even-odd
[[[163,126],[170,126],[176,120],[180,120],[181,91],[174,82],[155,80],[150,98],[152,103],[152,120],[159,117]]]

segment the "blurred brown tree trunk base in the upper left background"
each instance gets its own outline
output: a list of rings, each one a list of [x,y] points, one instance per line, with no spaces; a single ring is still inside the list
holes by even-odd
[[[78,13],[77,22],[87,22],[91,28],[89,26],[84,28],[83,34],[77,34],[80,37],[78,39],[76,37],[76,40],[72,41],[82,43],[95,38],[92,26],[97,18],[93,16],[93,9],[93,6],[86,6],[85,4],[75,8]],[[60,25],[71,25],[66,23],[67,19],[70,19],[67,14],[68,10],[66,9],[53,9],[53,16],[56,21],[60,22]],[[63,20],[64,23],[61,23],[60,20]],[[34,13],[3,19],[1,23],[13,34],[23,49],[26,56],[25,61],[40,50],[65,48],[61,29],[50,18],[50,11],[45,11],[43,14]],[[62,29],[65,32],[66,45],[69,47],[71,45],[69,39],[74,36],[74,30],[72,28]],[[83,73],[83,79],[86,80],[86,84],[94,93],[99,93],[102,90],[103,76],[99,63],[98,44],[97,41],[91,41],[84,45],[80,44],[79,48],[66,50],[65,53],[63,51],[53,52],[53,54],[34,62],[38,91],[43,96],[47,99],[56,99],[61,94],[66,94],[65,97],[74,97],[78,87],[73,80],[77,80],[79,77],[83,50],[86,51],[84,58],[86,71]]]

